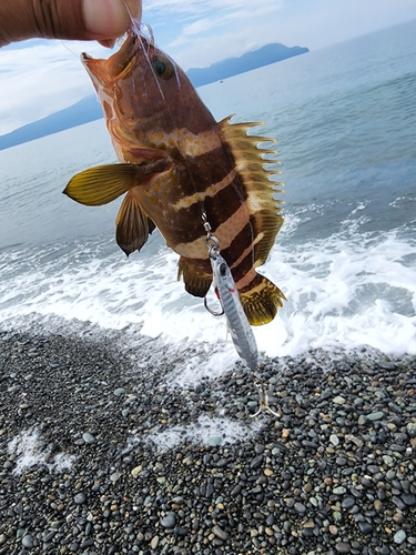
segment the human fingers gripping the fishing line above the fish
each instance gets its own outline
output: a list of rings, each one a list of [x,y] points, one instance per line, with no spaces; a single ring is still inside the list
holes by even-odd
[[[0,47],[33,39],[98,40],[111,47],[142,16],[141,0],[0,0]]]

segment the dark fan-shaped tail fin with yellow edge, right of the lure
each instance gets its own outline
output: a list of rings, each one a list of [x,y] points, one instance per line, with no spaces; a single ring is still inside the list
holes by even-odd
[[[255,274],[254,280],[240,291],[240,299],[251,325],[272,322],[277,309],[286,301],[282,291],[264,275]]]

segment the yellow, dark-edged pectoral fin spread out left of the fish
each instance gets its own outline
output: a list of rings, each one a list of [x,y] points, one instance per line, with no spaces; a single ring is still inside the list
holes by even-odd
[[[72,200],[88,206],[100,206],[115,200],[134,186],[149,184],[158,173],[172,165],[169,158],[143,164],[98,165],[77,173],[64,189]]]

